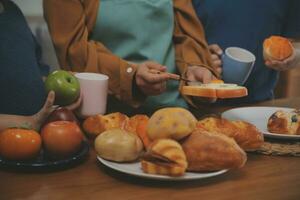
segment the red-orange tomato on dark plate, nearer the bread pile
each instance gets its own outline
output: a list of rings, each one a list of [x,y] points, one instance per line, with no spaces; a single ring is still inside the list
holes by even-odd
[[[83,141],[83,134],[75,122],[55,121],[41,131],[45,150],[53,157],[65,158],[76,153]]]

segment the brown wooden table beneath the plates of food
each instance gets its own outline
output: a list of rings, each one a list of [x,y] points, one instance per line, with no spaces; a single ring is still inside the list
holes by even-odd
[[[258,105],[300,108],[300,98]],[[87,160],[54,172],[0,171],[0,199],[300,199],[300,159],[248,154],[245,167],[213,178],[166,182],[108,169]]]

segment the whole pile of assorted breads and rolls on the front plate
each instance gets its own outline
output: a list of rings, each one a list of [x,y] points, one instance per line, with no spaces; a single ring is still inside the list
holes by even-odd
[[[182,176],[244,166],[244,150],[258,148],[262,135],[246,122],[207,118],[183,108],[163,108],[150,118],[121,113],[93,116],[83,129],[96,136],[95,150],[107,160],[139,159],[145,173]],[[254,133],[255,132],[255,133]]]

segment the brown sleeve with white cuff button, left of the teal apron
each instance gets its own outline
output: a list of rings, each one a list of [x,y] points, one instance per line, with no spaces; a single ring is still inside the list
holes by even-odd
[[[96,23],[99,0],[44,0],[44,16],[61,67],[109,76],[109,92],[133,106],[132,82],[136,66],[89,39]],[[128,68],[132,70],[127,70]],[[121,84],[122,83],[122,84]]]

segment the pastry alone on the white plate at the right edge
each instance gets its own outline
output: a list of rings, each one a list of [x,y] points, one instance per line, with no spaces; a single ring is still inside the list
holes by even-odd
[[[268,120],[271,133],[300,135],[300,110],[278,110]]]

